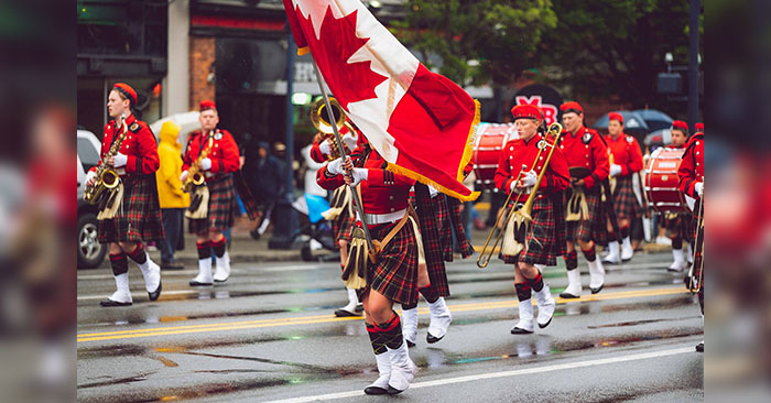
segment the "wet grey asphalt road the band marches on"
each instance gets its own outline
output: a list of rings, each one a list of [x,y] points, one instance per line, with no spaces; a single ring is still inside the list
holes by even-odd
[[[664,269],[670,253],[639,254],[606,266],[606,287],[557,299],[552,324],[512,336],[511,266],[448,265],[454,322],[427,345],[422,301],[421,371],[397,397],[365,396],[377,378],[358,318],[334,318],[346,302],[339,265],[239,263],[224,285],[192,290],[186,271],[164,272],[150,303],[131,266],[134,304],[101,308],[115,287],[109,270],[78,273],[77,395],[82,402],[689,402],[702,401],[703,338],[696,298],[682,275]],[[561,262],[561,266],[562,266]],[[564,269],[544,277],[558,294]]]

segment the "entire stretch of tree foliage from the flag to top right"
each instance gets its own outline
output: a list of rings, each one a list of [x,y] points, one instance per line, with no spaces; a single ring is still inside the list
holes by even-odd
[[[688,0],[408,0],[393,31],[456,83],[509,86],[555,67],[568,97],[662,106],[664,54],[687,63]],[[438,57],[436,57],[438,56]],[[438,62],[441,61],[441,62]],[[469,61],[478,61],[471,63]]]

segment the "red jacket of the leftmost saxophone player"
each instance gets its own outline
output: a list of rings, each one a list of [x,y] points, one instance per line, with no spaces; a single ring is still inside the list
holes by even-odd
[[[160,160],[158,157],[158,142],[155,135],[148,127],[148,123],[138,120],[133,115],[126,119],[128,132],[120,144],[121,154],[127,156],[126,166],[119,167],[120,176],[148,175],[158,171]],[[105,126],[105,137],[101,141],[101,153],[99,164],[105,155],[110,151],[112,139],[120,134],[120,127],[116,127],[115,120],[110,120]],[[123,170],[126,168],[124,172]],[[96,166],[89,171],[96,171]]]

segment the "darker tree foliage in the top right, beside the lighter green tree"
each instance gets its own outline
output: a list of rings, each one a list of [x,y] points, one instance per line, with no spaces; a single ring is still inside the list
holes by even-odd
[[[574,96],[662,106],[656,75],[688,61],[687,0],[553,0],[557,29],[543,37],[542,64],[560,66]]]

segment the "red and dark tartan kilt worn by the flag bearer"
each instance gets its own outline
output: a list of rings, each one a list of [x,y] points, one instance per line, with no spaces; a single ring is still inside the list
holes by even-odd
[[[397,224],[370,228],[372,239],[383,239]],[[367,271],[367,284],[391,301],[417,303],[417,242],[412,224],[406,222],[380,251]]]

